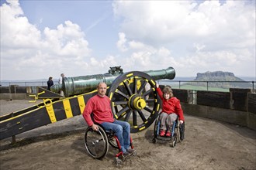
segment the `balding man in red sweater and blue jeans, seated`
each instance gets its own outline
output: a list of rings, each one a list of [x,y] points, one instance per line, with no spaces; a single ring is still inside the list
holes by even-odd
[[[98,125],[92,121],[91,114],[93,113],[96,123],[101,124],[106,131],[114,131],[121,145],[123,155],[130,155],[134,151],[130,148],[130,124],[113,118],[110,99],[106,96],[106,83],[99,83],[97,90],[98,94],[88,100],[83,112],[86,123],[89,127],[92,126],[94,131],[99,130]]]

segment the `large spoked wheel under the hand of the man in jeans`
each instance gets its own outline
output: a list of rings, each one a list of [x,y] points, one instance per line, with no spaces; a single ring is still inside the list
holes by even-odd
[[[85,131],[85,148],[92,158],[103,158],[109,151],[109,142],[105,131],[99,126],[99,131],[88,127]]]

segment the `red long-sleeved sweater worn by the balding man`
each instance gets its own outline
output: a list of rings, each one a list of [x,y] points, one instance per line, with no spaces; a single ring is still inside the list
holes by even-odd
[[[91,114],[94,114],[94,121],[101,124],[102,122],[113,122],[113,114],[110,107],[110,100],[109,97],[104,96],[101,97],[98,94],[94,97],[91,97],[83,112],[83,117],[85,118],[86,123],[88,126],[92,126],[93,121]]]

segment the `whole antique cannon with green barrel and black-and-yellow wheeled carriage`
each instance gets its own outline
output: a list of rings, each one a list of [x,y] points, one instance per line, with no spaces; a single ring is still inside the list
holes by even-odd
[[[0,117],[0,140],[81,115],[88,99],[97,93],[99,82],[108,85],[107,95],[116,119],[129,122],[132,133],[143,131],[154,122],[160,110],[155,80],[174,78],[172,67],[123,73],[120,66],[110,67],[105,74],[66,77],[62,86],[50,87],[52,92],[38,87],[40,93],[36,98],[43,98],[42,103]],[[59,90],[64,90],[65,97],[57,94]],[[57,97],[47,96],[47,93]]]

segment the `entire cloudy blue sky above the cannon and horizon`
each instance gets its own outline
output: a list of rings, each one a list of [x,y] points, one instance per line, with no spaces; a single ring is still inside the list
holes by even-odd
[[[255,1],[2,1],[1,80],[175,68],[256,74]],[[255,79],[255,78],[254,78]]]

